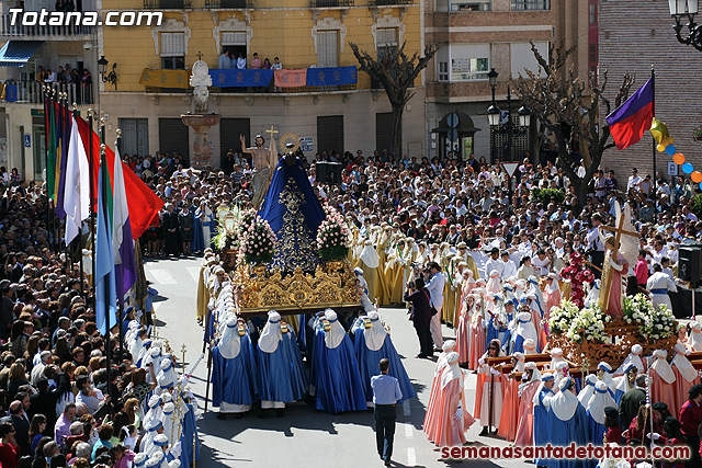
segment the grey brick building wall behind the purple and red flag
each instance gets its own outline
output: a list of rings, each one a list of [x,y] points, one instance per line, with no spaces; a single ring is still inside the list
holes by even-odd
[[[608,71],[610,100],[616,95],[625,72],[636,77],[633,93],[650,78],[650,68],[655,67],[656,117],[667,124],[678,151],[699,170],[702,141],[695,139],[695,130],[702,132],[702,102],[697,99],[702,87],[702,53],[677,41],[668,2],[601,1],[599,24],[600,70]],[[650,134],[646,133],[636,145],[605,152],[602,167],[615,171],[620,185],[626,182],[632,167],[638,169],[641,176],[653,178],[652,145]],[[656,155],[656,170],[668,180],[667,165],[671,161],[665,152]]]

